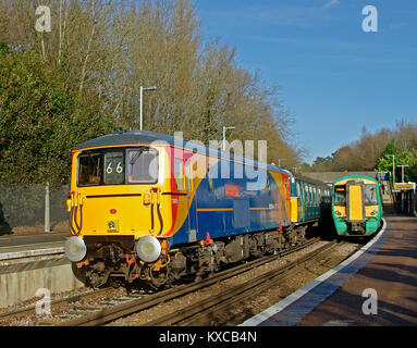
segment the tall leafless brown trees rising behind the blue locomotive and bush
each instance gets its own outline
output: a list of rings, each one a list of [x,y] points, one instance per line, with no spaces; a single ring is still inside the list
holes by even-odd
[[[38,52],[65,72],[66,88],[99,98],[103,116],[137,128],[140,86],[144,128],[186,138],[229,138],[269,142],[269,161],[297,165],[302,150],[292,144],[292,116],[258,73],[236,63],[236,49],[220,39],[203,41],[191,0],[42,0],[50,7],[52,32],[36,33],[40,0],[0,0],[1,40],[14,52]],[[81,98],[79,98],[81,99]]]

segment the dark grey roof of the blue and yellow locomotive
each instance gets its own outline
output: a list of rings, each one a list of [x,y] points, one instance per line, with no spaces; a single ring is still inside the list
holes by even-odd
[[[211,149],[203,146],[201,144],[187,141],[182,138],[173,137],[167,134],[160,134],[148,130],[118,130],[112,134],[108,134],[95,139],[90,139],[77,145],[74,150],[83,150],[88,148],[101,148],[107,146],[127,146],[127,145],[171,145],[175,147],[185,148],[192,151],[210,154],[213,157],[220,157],[222,159],[244,161],[246,164],[253,164],[259,166],[258,161],[249,160],[242,156],[223,152],[217,149]],[[281,172],[293,176],[291,171],[285,169],[267,164],[269,170]]]

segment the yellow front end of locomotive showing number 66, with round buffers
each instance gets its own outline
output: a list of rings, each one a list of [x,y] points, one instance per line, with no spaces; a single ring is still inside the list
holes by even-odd
[[[172,225],[169,156],[163,146],[73,151],[65,254],[87,283],[149,281],[168,263]],[[158,272],[160,273],[160,272]],[[158,285],[158,279],[155,279]]]

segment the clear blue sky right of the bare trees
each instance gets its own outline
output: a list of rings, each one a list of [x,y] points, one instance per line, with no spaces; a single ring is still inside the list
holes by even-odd
[[[307,162],[396,121],[417,121],[417,1],[193,0],[207,38],[234,46],[295,117]],[[378,10],[365,33],[363,9]]]

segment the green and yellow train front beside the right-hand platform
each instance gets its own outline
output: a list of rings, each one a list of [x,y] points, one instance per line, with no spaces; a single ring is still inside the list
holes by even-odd
[[[332,216],[339,236],[369,236],[381,225],[380,183],[353,174],[333,182]]]

